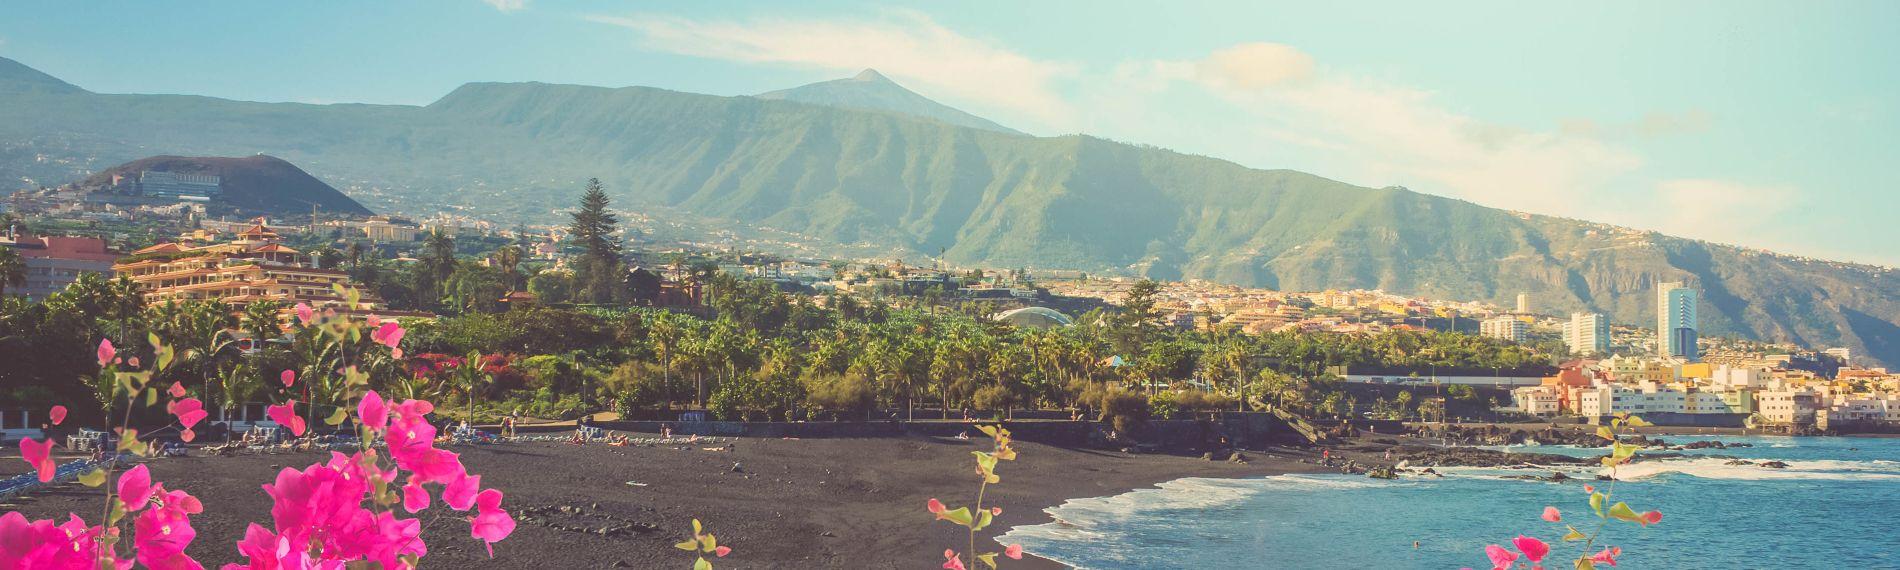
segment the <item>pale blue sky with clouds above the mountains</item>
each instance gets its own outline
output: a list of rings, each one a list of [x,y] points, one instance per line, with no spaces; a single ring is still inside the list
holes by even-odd
[[[0,57],[103,93],[752,95],[876,68],[1034,135],[1900,266],[1900,2],[44,2]]]

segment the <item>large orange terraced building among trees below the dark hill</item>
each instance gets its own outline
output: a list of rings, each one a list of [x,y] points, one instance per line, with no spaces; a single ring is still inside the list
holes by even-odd
[[[350,285],[350,274],[317,268],[312,258],[264,226],[251,226],[238,239],[215,245],[160,243],[135,251],[131,260],[112,266],[144,291],[146,302],[165,300],[222,300],[243,310],[256,300],[277,300],[285,306],[308,302],[314,308],[334,308],[342,314],[424,315],[390,312],[374,296],[357,306],[342,306],[344,298],[331,285]]]

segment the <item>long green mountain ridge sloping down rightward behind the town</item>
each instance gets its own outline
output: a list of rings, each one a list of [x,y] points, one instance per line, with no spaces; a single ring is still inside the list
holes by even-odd
[[[652,87],[467,84],[428,106],[0,89],[0,179],[61,162],[283,156],[403,203],[559,222],[581,180],[667,207],[954,264],[1385,289],[1645,325],[1702,289],[1704,336],[1900,365],[1900,274],[1248,169],[1092,137]],[[11,146],[8,146],[11,144]],[[8,152],[6,148],[17,148]]]

